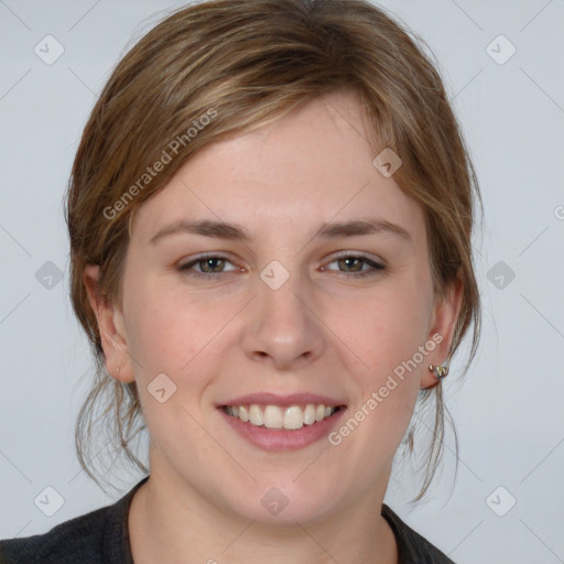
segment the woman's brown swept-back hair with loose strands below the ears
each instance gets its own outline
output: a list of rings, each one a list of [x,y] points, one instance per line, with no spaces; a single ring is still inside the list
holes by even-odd
[[[128,229],[143,202],[203,147],[336,89],[350,90],[366,109],[375,156],[391,148],[403,161],[394,180],[424,209],[435,291],[442,295],[457,274],[464,283],[449,358],[473,326],[471,361],[480,321],[471,257],[478,184],[441,76],[416,41],[424,45],[364,0],[212,0],[166,18],[118,64],[85,127],[66,202],[70,296],[97,360],[76,447],[98,484],[87,454],[94,453],[98,405],[108,443],[148,468],[130,444],[144,429],[135,383],[105,369],[85,267],[100,265],[100,296],[119,303]],[[158,162],[160,172],[148,172]],[[441,384],[421,391],[424,403],[432,397],[434,440],[416,499],[429,488],[443,444]],[[408,444],[412,451],[413,429]]]

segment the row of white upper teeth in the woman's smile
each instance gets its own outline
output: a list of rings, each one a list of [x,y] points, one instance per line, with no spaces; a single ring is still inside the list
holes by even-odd
[[[240,419],[243,423],[251,423],[268,429],[302,429],[304,425],[312,425],[335,413],[337,408],[325,406],[323,403],[314,405],[227,405],[224,408],[228,415]]]

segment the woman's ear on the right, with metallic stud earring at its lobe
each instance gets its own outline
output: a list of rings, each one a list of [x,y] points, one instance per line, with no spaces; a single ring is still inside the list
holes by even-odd
[[[456,279],[445,290],[444,295],[435,299],[427,341],[435,343],[436,347],[426,357],[426,365],[421,375],[421,388],[434,388],[438,383],[435,375],[429,370],[429,365],[443,365],[447,360],[460,313],[463,293],[464,283],[458,271]]]

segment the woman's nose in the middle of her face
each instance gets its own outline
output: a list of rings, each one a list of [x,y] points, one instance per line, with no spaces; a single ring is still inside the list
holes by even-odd
[[[247,357],[276,370],[295,370],[317,359],[326,341],[313,302],[299,276],[291,275],[278,290],[259,280],[242,339]]]

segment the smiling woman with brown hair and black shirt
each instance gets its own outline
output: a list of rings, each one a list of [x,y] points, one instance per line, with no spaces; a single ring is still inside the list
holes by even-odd
[[[383,503],[479,301],[477,183],[434,66],[361,0],[216,0],[149,32],[85,128],[72,300],[149,476],[3,562],[452,562]],[[406,438],[405,438],[406,437]],[[138,460],[140,465],[142,463]]]

